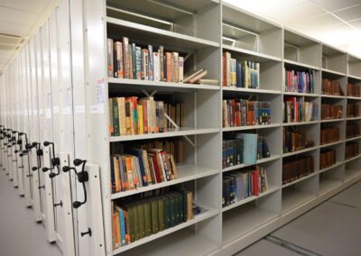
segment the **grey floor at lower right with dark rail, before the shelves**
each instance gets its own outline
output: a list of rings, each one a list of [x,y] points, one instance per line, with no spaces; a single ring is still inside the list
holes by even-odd
[[[360,256],[361,182],[235,256]]]

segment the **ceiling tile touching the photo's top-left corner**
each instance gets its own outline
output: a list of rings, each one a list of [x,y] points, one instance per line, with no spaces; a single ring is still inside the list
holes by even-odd
[[[42,11],[50,2],[51,0],[1,0],[0,6],[23,10],[26,12],[32,12],[35,14],[42,14]]]

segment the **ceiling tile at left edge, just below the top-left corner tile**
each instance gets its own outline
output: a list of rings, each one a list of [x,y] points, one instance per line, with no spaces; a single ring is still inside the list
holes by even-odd
[[[28,25],[35,23],[38,17],[39,14],[33,14],[0,6],[0,21],[2,22]]]

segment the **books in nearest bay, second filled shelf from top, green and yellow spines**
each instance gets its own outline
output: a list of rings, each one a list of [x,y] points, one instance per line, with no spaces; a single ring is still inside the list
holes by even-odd
[[[163,133],[173,125],[168,114],[178,125],[183,126],[183,103],[166,104],[155,101],[153,96],[138,98],[113,97],[109,99],[109,133],[111,136],[143,133]]]

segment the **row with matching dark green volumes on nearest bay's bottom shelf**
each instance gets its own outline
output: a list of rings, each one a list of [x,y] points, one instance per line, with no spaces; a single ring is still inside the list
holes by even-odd
[[[191,220],[192,194],[185,188],[171,187],[158,195],[116,202],[112,215],[114,249]]]

